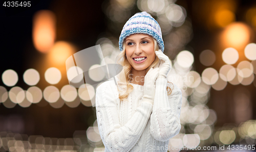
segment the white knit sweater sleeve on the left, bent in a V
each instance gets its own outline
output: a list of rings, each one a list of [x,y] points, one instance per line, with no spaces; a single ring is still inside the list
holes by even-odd
[[[95,104],[100,137],[108,151],[130,151],[143,133],[153,105],[141,102],[131,119],[121,126],[117,99],[108,83],[101,84],[96,90]]]

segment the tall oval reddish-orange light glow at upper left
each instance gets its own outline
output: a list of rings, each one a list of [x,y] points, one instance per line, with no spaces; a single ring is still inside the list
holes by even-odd
[[[33,43],[42,53],[49,52],[55,40],[56,17],[52,11],[40,10],[33,18]]]

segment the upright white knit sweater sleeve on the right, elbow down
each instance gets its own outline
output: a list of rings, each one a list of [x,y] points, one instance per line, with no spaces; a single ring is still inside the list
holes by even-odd
[[[153,112],[150,117],[151,135],[158,141],[166,141],[179,134],[181,129],[181,90],[174,84],[172,93],[167,95],[167,79],[156,80]]]

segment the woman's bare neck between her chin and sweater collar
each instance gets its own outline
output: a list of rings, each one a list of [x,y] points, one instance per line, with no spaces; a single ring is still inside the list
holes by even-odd
[[[132,69],[132,80],[131,83],[133,84],[138,84],[138,85],[144,85],[144,79],[145,79],[145,75],[146,75],[146,69],[144,70],[136,70],[136,69]]]

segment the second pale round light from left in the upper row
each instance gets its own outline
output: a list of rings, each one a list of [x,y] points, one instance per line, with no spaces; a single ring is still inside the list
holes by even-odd
[[[39,82],[40,75],[35,69],[27,69],[23,74],[23,79],[26,84],[34,86]]]

